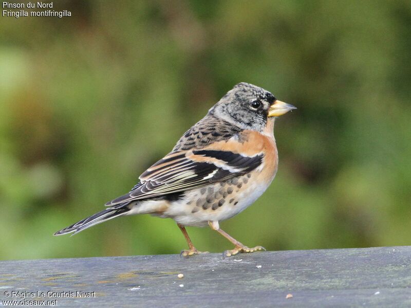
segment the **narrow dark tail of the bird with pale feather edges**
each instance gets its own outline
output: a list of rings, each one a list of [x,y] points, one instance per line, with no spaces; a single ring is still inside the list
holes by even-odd
[[[108,221],[110,219],[116,218],[118,216],[124,215],[129,210],[130,208],[128,206],[120,208],[108,208],[94,215],[91,215],[90,217],[87,217],[67,228],[57,231],[53,235],[63,235],[71,232],[74,232],[73,234],[71,234],[74,235],[76,233],[79,233],[80,231],[83,231],[84,229]]]

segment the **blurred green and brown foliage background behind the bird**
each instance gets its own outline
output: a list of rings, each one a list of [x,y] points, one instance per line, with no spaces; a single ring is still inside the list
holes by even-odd
[[[178,253],[172,220],[104,208],[238,82],[296,112],[277,176],[221,227],[269,250],[411,244],[411,2],[54,1],[0,17],[0,259]],[[200,250],[231,244],[188,228]]]

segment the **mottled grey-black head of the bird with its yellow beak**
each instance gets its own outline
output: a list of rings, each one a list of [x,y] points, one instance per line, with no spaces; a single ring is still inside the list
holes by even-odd
[[[241,129],[262,132],[268,119],[296,109],[277,100],[267,90],[250,83],[236,84],[209,111],[216,117],[229,121]]]

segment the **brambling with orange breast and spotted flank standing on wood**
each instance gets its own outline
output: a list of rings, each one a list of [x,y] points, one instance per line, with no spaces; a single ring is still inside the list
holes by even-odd
[[[123,215],[151,214],[177,223],[189,246],[181,251],[183,257],[203,253],[190,240],[187,226],[209,225],[228,239],[234,248],[223,252],[226,257],[265,250],[241,244],[219,222],[245,210],[271,184],[278,167],[274,121],[294,109],[261,87],[236,84],[169,154],[139,176],[132,190],[53,235],[76,234]]]

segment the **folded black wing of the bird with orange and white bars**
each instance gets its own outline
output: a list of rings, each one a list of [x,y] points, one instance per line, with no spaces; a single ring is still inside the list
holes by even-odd
[[[200,149],[171,152],[148,168],[132,191],[106,206],[195,189],[246,174],[261,165],[264,154],[241,151],[244,147],[247,144],[220,141]]]

